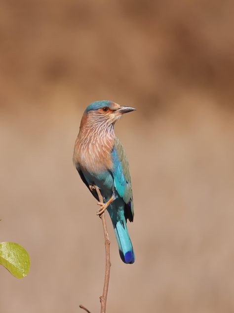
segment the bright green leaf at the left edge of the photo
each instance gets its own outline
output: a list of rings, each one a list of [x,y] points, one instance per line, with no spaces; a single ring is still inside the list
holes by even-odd
[[[0,243],[0,264],[16,278],[27,276],[30,268],[28,252],[14,242]]]

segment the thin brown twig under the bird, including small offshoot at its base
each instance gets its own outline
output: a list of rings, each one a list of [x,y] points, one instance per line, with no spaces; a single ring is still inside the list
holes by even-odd
[[[94,186],[96,192],[98,194],[99,202],[103,203],[103,197],[101,192],[97,186]],[[107,293],[108,293],[108,286],[110,280],[110,271],[111,271],[111,253],[110,253],[110,240],[107,232],[107,224],[106,224],[106,217],[105,212],[103,212],[99,216],[102,220],[102,226],[104,231],[104,238],[105,238],[105,252],[106,252],[106,268],[105,268],[105,279],[104,279],[104,286],[103,286],[103,293],[100,296],[100,303],[101,303],[101,313],[106,313],[106,305],[107,305]],[[84,311],[90,313],[84,306],[79,306]]]

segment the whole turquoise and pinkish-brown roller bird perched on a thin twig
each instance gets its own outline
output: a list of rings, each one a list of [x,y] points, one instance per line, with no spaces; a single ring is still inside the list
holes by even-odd
[[[114,132],[114,125],[122,114],[134,107],[121,106],[112,101],[89,104],[82,116],[75,143],[73,161],[78,173],[92,195],[99,200],[94,186],[103,197],[98,202],[98,215],[108,210],[114,226],[120,258],[133,263],[135,255],[128,235],[126,221],[134,216],[129,165],[122,144]]]

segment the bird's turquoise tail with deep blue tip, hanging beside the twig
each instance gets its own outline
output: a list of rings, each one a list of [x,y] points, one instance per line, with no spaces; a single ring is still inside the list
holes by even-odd
[[[134,263],[135,254],[132,243],[127,231],[125,217],[120,217],[117,221],[113,221],[115,235],[118,243],[118,250],[121,260],[124,263]]]

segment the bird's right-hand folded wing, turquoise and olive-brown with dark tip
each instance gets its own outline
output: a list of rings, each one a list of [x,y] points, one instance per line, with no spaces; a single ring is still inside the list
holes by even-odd
[[[114,177],[115,188],[125,203],[125,218],[128,218],[129,221],[132,222],[134,209],[129,165],[123,146],[117,138],[115,139],[114,148],[112,150],[112,162],[112,174]]]

